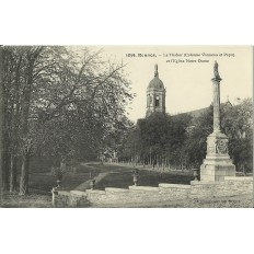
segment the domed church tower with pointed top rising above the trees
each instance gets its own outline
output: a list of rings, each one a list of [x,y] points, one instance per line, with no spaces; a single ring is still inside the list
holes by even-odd
[[[165,89],[163,82],[159,79],[158,65],[154,68],[154,78],[147,88],[147,116],[154,112],[165,114]]]

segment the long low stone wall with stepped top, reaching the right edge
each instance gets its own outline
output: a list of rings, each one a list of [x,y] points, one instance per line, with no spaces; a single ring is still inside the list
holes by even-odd
[[[190,185],[159,184],[159,187],[129,186],[129,188],[105,188],[105,190],[58,192],[56,207],[89,207],[89,206],[146,206],[153,203],[174,200],[207,199],[232,197],[253,193],[252,177],[226,177],[224,182],[190,182]]]

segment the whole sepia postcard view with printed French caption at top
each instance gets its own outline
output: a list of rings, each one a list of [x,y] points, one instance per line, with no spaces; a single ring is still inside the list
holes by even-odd
[[[0,54],[1,207],[253,208],[253,47]]]

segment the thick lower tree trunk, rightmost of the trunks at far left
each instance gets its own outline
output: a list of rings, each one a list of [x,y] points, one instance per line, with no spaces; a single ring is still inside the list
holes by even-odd
[[[22,155],[20,193],[19,193],[19,195],[28,194],[28,168],[30,168],[30,154],[25,153],[25,154]]]

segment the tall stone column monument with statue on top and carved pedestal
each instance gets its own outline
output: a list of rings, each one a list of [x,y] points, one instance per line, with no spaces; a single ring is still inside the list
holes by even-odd
[[[224,181],[224,176],[235,176],[235,165],[228,154],[228,137],[220,128],[220,81],[218,62],[213,67],[213,131],[207,137],[207,155],[200,166],[200,181]]]

